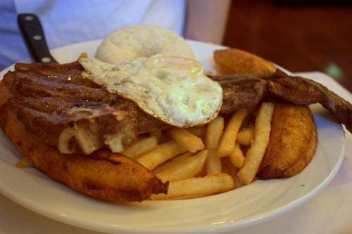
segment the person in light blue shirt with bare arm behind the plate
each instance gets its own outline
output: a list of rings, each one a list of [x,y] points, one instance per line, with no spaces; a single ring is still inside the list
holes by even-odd
[[[50,49],[103,39],[127,25],[158,25],[186,39],[221,44],[230,0],[1,0],[0,70],[29,57],[18,13],[42,22]]]

